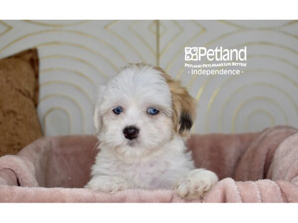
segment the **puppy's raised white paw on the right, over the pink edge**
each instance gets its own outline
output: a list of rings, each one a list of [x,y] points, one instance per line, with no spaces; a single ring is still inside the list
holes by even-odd
[[[175,191],[188,199],[200,197],[218,181],[217,175],[206,169],[193,169],[178,181]]]

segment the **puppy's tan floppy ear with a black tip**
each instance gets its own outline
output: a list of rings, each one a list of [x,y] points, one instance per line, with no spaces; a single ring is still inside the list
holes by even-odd
[[[196,100],[189,95],[180,81],[173,80],[161,68],[154,67],[164,77],[172,95],[173,124],[175,131],[181,136],[189,136],[189,130],[196,119]]]

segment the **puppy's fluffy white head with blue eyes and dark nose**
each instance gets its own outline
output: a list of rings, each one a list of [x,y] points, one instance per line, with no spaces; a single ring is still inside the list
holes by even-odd
[[[182,111],[183,99],[171,90],[179,90],[178,85],[170,81],[158,68],[131,64],[101,87],[94,111],[100,148],[124,159],[139,159],[159,150],[173,134],[188,131],[193,114],[190,108]]]

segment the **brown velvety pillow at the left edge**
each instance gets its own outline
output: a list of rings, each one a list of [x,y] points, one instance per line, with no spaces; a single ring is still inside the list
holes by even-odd
[[[0,59],[0,156],[43,136],[37,116],[37,49]]]

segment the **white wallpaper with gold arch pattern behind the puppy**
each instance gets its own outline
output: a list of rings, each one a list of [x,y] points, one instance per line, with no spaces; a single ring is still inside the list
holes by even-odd
[[[193,133],[298,127],[297,21],[0,21],[0,57],[34,46],[40,56],[38,114],[48,136],[92,134],[96,85],[141,61],[181,79],[197,99]],[[246,46],[244,73],[192,76],[184,47],[200,46]]]

